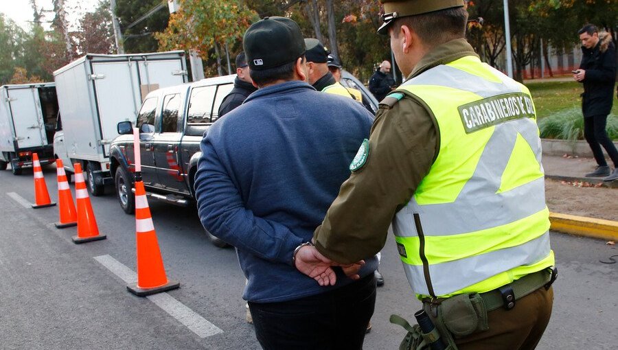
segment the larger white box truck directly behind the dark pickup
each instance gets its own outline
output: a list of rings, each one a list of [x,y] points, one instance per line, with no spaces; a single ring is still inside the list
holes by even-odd
[[[135,124],[150,91],[187,82],[187,64],[183,51],[87,54],[54,71],[54,80],[60,104],[54,154],[69,174],[80,162],[87,188],[99,196],[114,182],[109,143],[118,136],[117,124]]]

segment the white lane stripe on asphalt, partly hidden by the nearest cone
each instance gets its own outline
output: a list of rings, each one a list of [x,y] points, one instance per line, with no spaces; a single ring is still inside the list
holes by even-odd
[[[133,272],[133,270],[124,266],[110,255],[100,255],[94,257],[94,259],[99,261],[100,264],[113,272],[114,275],[122,279],[125,283],[131,284],[137,281],[137,274]],[[203,318],[180,301],[177,301],[168,293],[152,294],[146,296],[146,298],[152,301],[152,303],[155,303],[158,307],[161,307],[161,309],[170,314],[170,316],[176,318],[176,320],[185,325],[200,338],[207,338],[215,334],[223,333],[219,327],[213,325],[209,320]]]

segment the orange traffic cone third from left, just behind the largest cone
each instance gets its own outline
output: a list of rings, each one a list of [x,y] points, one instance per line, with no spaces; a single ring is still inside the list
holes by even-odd
[[[82,173],[82,165],[75,163],[75,200],[78,207],[78,235],[73,237],[73,242],[76,244],[104,240],[106,235],[99,234],[97,220],[92,211],[90,197],[84,182],[84,174]]]

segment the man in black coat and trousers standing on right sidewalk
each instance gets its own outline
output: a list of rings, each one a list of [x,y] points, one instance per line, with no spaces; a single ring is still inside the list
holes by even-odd
[[[584,137],[597,161],[597,169],[586,177],[606,176],[604,181],[618,179],[618,150],[605,130],[607,116],[614,100],[616,81],[616,49],[607,32],[598,32],[595,25],[587,24],[577,32],[582,40],[582,63],[573,71],[573,78],[584,84],[582,113]],[[610,172],[601,145],[614,163]]]

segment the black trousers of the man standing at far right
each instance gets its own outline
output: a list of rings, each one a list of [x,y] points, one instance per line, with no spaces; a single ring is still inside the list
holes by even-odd
[[[607,136],[606,124],[607,115],[584,117],[584,138],[588,141],[588,145],[590,145],[598,165],[607,166],[603,150],[601,149],[601,145],[603,145],[608,156],[614,162],[614,167],[618,167],[618,150],[616,150],[616,146]]]

